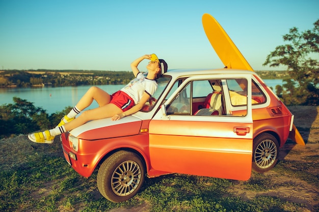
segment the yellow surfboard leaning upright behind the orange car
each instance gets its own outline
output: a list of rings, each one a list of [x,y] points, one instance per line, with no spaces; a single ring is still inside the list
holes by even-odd
[[[212,48],[222,60],[225,68],[254,71],[214,17],[205,13],[202,17],[202,23]],[[298,144],[305,145],[305,141],[295,125],[293,125],[293,130],[289,133],[289,138]]]

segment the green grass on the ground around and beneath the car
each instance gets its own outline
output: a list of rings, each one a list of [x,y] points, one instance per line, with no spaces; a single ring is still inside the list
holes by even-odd
[[[99,194],[97,171],[85,178],[67,164],[59,138],[48,145],[31,143],[25,135],[2,139],[0,154],[0,211],[93,212],[137,206],[154,212],[309,211],[305,203],[268,194],[280,186],[270,176],[289,175],[319,189],[318,174],[313,171],[319,168],[319,158],[310,156],[306,164],[280,161],[272,175],[253,172],[248,181],[183,174],[146,178],[135,197],[113,203]],[[246,198],[236,189],[255,195]]]

